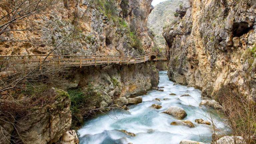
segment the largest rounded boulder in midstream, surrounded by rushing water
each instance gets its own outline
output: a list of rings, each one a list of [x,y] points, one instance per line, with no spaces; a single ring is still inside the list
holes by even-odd
[[[178,119],[183,119],[185,116],[187,116],[186,111],[183,108],[176,107],[176,106],[171,106],[167,108],[163,113],[172,115]]]

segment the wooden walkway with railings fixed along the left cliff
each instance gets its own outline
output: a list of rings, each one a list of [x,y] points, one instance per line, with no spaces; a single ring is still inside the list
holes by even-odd
[[[151,60],[151,56],[156,57],[156,53],[148,53],[142,56],[126,57],[113,55],[10,55],[0,56],[0,66],[17,67],[17,66],[32,66],[42,64],[45,57],[45,62],[51,65],[59,65],[63,67],[82,67],[82,66],[98,66],[98,65],[129,65],[137,63],[145,63]],[[167,60],[166,58],[155,58],[153,61]]]

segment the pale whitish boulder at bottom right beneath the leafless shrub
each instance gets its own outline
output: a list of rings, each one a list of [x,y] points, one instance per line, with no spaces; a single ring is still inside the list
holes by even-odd
[[[246,144],[241,136],[224,136],[217,140],[217,144],[234,144],[235,141],[237,144]]]

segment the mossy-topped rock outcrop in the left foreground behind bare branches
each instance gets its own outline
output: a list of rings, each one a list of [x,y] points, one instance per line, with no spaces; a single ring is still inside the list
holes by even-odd
[[[1,126],[8,128],[6,129],[9,131],[8,135],[17,136],[18,132],[20,138],[26,144],[57,142],[71,126],[71,111],[69,95],[62,90],[56,90],[55,93],[56,100],[53,104],[44,106],[39,110],[31,110],[24,117],[16,120],[16,131],[11,132],[13,125],[2,125],[2,121]],[[6,134],[5,131],[4,134]],[[7,138],[9,138],[8,135],[6,135]],[[0,143],[8,144],[8,141],[6,142],[6,139],[3,139]]]

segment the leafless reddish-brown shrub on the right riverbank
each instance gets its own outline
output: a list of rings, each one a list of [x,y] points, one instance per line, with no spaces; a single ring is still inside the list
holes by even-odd
[[[214,142],[220,138],[218,135],[241,136],[247,144],[256,143],[256,106],[248,101],[246,95],[240,93],[236,88],[223,86],[217,94],[218,100],[222,103],[224,111],[219,115],[225,115],[230,129],[220,130],[214,127],[219,134],[214,133]]]

